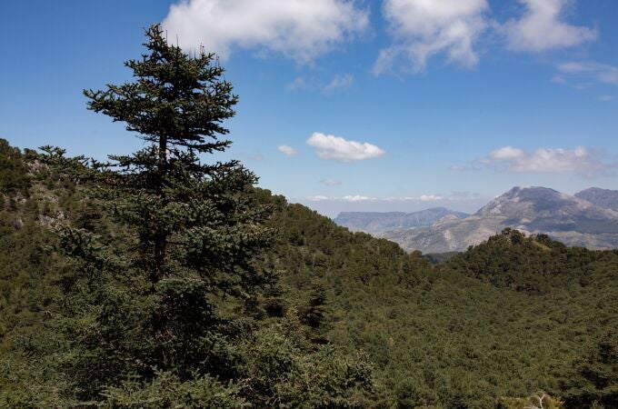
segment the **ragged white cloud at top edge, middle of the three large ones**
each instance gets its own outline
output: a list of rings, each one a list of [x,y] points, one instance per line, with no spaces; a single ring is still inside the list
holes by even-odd
[[[487,26],[486,0],[384,0],[383,14],[395,44],[381,50],[374,74],[404,59],[409,70],[423,70],[433,55],[446,53],[458,65],[478,63],[474,43]]]

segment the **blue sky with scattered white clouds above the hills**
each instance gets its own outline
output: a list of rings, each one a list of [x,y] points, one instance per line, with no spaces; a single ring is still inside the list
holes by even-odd
[[[134,151],[81,91],[130,79],[155,22],[222,57],[240,104],[221,158],[324,214],[618,189],[614,0],[3,0],[0,137]]]

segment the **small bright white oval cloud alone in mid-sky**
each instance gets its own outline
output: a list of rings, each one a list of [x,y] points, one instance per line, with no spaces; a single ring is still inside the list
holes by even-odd
[[[385,154],[384,150],[376,145],[347,141],[341,136],[324,135],[319,132],[311,135],[307,139],[307,144],[314,146],[321,158],[340,162],[362,161]]]

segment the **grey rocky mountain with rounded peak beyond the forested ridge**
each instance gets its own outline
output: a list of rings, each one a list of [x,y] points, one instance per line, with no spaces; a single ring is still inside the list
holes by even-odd
[[[380,235],[406,250],[445,253],[479,244],[504,227],[549,234],[568,245],[618,247],[618,210],[546,187],[513,187],[467,218]]]

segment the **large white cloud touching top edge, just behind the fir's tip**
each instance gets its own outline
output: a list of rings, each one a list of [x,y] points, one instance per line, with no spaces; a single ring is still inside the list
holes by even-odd
[[[309,62],[365,30],[368,13],[352,0],[181,0],[164,19],[169,38],[222,58],[234,49]]]

